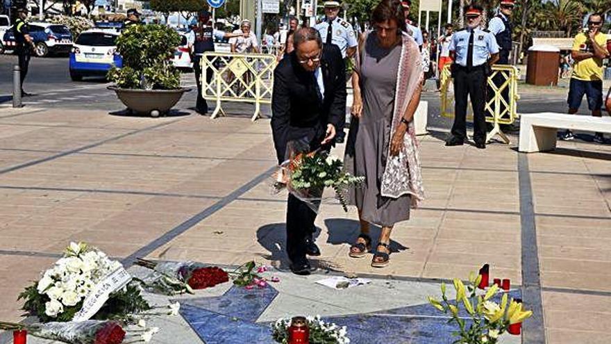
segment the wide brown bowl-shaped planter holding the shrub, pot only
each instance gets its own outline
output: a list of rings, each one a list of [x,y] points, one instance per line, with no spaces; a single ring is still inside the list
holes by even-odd
[[[117,97],[130,109],[138,115],[151,115],[158,117],[165,114],[171,109],[181,97],[183,93],[189,92],[190,88],[179,88],[178,90],[136,90],[128,88],[117,88],[117,86],[109,86],[108,90],[113,90],[117,93]]]

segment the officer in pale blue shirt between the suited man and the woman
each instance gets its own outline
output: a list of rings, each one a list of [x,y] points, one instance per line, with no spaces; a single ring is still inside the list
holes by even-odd
[[[324,2],[325,19],[315,26],[324,44],[335,44],[342,51],[342,58],[351,58],[356,52],[358,40],[349,22],[337,17],[340,13],[340,1]],[[344,128],[346,119],[340,123],[340,129]],[[337,131],[335,142],[342,143],[346,138],[343,130]]]

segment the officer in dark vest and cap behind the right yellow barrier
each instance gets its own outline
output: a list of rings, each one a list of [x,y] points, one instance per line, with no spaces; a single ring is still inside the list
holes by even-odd
[[[513,30],[512,24],[510,22],[510,17],[512,15],[514,6],[514,0],[501,0],[501,8],[499,10],[499,13],[497,13],[492,19],[490,19],[490,22],[488,23],[488,31],[490,31],[490,33],[494,35],[494,37],[496,38],[496,44],[499,44],[499,49],[501,49],[501,51],[499,51],[499,60],[496,62],[496,64],[498,65],[509,65],[509,54],[512,50],[511,37]],[[496,76],[494,77],[494,83],[496,84],[496,87],[500,87],[501,85],[503,85],[504,81],[505,79],[501,74],[496,74]],[[494,91],[489,88],[488,92],[489,99],[492,99],[492,97],[494,97],[494,93],[492,92]],[[503,91],[501,91],[501,97],[503,97],[507,104],[509,104],[509,88],[505,88]],[[501,113],[505,111],[505,104],[503,104],[502,102],[500,111]],[[490,117],[492,117],[492,114],[490,114]],[[503,129],[503,131],[519,130],[517,126],[506,125],[501,125],[501,129]]]

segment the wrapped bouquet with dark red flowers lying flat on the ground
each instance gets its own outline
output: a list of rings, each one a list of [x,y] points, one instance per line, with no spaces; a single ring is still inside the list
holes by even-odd
[[[193,293],[193,290],[210,288],[229,281],[229,276],[223,269],[194,261],[156,262],[138,259],[136,264],[153,270],[140,279],[144,287],[167,295]]]

